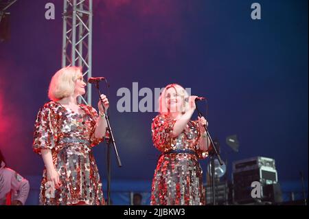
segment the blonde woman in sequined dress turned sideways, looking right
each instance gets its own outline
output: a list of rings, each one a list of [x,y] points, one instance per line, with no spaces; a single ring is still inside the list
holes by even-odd
[[[77,103],[86,83],[79,67],[65,67],[49,84],[49,99],[38,111],[34,152],[45,164],[40,205],[104,205],[102,183],[91,148],[104,140],[106,119],[95,108]],[[101,95],[104,107],[108,100]]]

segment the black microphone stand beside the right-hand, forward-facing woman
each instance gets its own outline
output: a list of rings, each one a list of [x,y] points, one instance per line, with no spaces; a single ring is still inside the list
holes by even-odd
[[[198,106],[197,106],[196,103],[195,103],[195,106],[196,106],[196,111],[198,112],[198,116],[203,117],[201,111],[198,110]],[[210,162],[211,162],[211,200],[212,200],[212,205],[216,205],[216,194],[215,194],[215,183],[216,182],[215,182],[215,176],[214,176],[214,174],[215,174],[215,169],[214,169],[215,156],[218,158],[220,165],[223,165],[223,162],[222,162],[222,159],[220,157],[220,154],[218,153],[216,145],[214,144],[214,141],[212,141],[212,139],[211,139],[211,136],[209,134],[208,129],[206,128],[206,125],[204,125],[204,128],[206,130],[207,137],[209,137],[209,140],[210,140],[210,143],[211,143],[211,146],[212,146],[212,150],[211,150],[211,152],[209,152]]]

